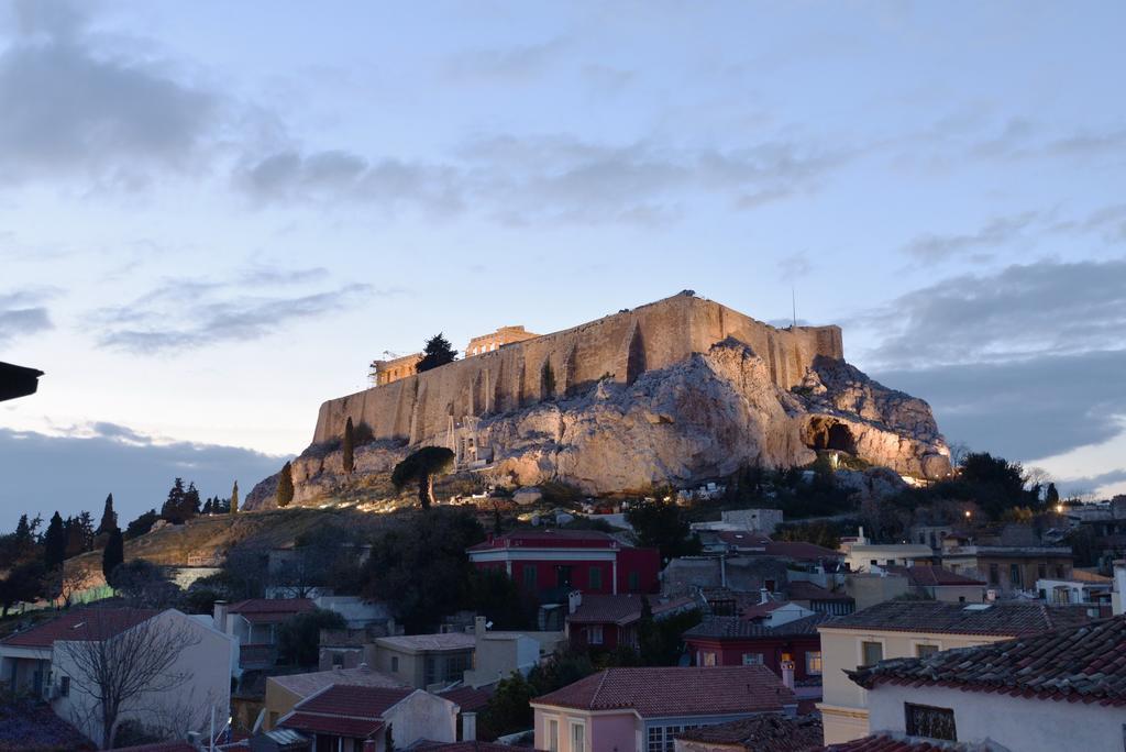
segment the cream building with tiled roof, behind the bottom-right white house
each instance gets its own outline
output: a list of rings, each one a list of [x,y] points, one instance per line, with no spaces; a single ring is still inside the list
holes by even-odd
[[[893,600],[820,627],[825,744],[872,733],[868,690],[844,673],[896,657],[919,657],[1082,624],[1082,607],[1031,601],[945,603]]]

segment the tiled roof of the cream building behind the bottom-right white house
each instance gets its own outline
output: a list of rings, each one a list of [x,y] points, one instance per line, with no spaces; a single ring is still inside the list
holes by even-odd
[[[920,632],[951,635],[1016,637],[1090,621],[1084,606],[1048,606],[1036,601],[947,603],[926,600],[890,600],[840,617],[831,629],[869,632]]]

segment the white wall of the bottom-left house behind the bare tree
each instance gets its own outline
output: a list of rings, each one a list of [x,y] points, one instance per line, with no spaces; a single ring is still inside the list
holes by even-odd
[[[181,737],[181,726],[204,731],[211,719],[212,707],[215,708],[216,719],[225,722],[231,708],[230,666],[234,651],[230,635],[176,609],[163,611],[153,619],[161,626],[167,625],[168,629],[184,628],[198,638],[195,645],[180,653],[169,670],[170,673],[186,674],[188,679],[168,691],[137,696],[122,710],[119,720],[135,720],[154,728],[167,727],[170,740]],[[63,678],[70,678],[70,691],[65,696],[56,696],[51,707],[59,717],[72,723],[88,737],[100,741],[101,720],[97,701],[78,686],[75,677],[81,674],[65,645],[61,641],[55,643],[51,681],[53,687],[60,688]]]

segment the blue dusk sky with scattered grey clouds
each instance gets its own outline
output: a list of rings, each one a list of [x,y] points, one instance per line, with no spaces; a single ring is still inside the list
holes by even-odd
[[[0,529],[681,289],[1126,492],[1126,5],[0,0]]]

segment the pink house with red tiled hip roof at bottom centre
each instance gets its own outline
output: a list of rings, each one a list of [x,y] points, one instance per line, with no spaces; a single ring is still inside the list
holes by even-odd
[[[761,665],[608,669],[531,701],[538,750],[671,752],[689,728],[763,713],[793,715],[797,700]]]

